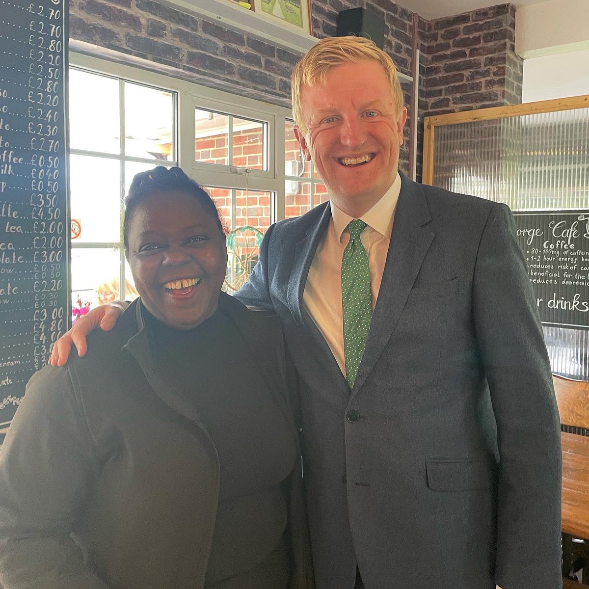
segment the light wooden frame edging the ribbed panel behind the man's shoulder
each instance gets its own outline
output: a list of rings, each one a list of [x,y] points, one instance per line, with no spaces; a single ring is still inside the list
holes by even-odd
[[[505,107],[480,108],[479,110],[450,112],[449,114],[425,117],[423,125],[422,182],[423,184],[432,184],[434,181],[434,140],[436,127],[518,117],[526,114],[540,114],[541,112],[573,110],[575,108],[589,108],[589,94],[572,98],[557,98],[556,100],[511,104]]]

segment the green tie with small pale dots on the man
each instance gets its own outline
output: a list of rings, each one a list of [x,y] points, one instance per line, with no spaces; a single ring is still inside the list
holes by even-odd
[[[368,254],[360,241],[365,227],[360,219],[350,221],[350,243],[342,256],[343,355],[350,389],[356,381],[372,318]]]

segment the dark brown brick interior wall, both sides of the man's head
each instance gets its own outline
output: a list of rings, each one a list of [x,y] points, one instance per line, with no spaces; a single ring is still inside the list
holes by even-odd
[[[230,2],[231,0],[227,0]],[[198,3],[196,3],[198,4]],[[209,87],[289,106],[290,73],[301,51],[155,0],[70,0],[70,45],[99,57],[161,71]],[[335,35],[337,13],[362,6],[385,21],[385,50],[411,76],[413,13],[391,0],[312,0],[313,35]],[[501,4],[435,20],[417,18],[419,106],[417,178],[423,117],[521,100],[514,52],[515,9]],[[105,55],[107,53],[107,55]],[[402,82],[410,104],[411,82]],[[409,168],[409,112],[400,168]]]

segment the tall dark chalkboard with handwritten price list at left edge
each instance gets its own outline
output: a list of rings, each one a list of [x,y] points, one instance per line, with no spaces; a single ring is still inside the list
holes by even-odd
[[[67,329],[66,0],[0,0],[0,441]]]

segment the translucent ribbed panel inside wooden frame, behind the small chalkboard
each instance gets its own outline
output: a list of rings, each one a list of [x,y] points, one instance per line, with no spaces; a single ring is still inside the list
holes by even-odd
[[[589,209],[589,108],[436,127],[434,185],[514,211]],[[544,336],[552,372],[589,380],[589,330]]]

